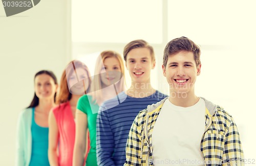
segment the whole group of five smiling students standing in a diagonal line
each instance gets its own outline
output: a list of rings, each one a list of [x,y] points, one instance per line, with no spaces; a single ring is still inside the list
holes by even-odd
[[[127,90],[115,51],[100,53],[93,78],[85,64],[70,62],[59,88],[53,72],[37,72],[34,98],[18,118],[16,165],[244,165],[233,117],[195,94],[200,54],[186,37],[167,43],[169,97],[151,86],[156,59],[144,40],[124,47]]]

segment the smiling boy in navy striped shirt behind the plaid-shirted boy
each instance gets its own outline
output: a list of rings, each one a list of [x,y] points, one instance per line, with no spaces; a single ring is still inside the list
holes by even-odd
[[[97,117],[97,163],[102,166],[123,165],[127,136],[135,117],[147,105],[161,101],[166,95],[151,86],[151,70],[155,68],[153,47],[144,40],[134,40],[124,47],[125,66],[132,85],[115,99],[104,102]]]

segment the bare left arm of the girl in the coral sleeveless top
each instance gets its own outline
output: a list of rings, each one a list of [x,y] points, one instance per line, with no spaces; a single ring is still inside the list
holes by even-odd
[[[57,147],[59,140],[58,125],[53,113],[53,110],[49,113],[49,144],[48,144],[48,158],[51,166],[58,166]]]

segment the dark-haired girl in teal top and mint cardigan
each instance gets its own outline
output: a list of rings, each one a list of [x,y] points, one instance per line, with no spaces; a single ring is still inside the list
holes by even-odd
[[[19,114],[17,123],[16,165],[49,165],[48,114],[54,106],[57,78],[41,70],[34,77],[34,98]]]

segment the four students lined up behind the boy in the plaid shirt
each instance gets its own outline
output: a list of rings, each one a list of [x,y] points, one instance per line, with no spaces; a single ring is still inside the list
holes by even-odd
[[[80,61],[67,65],[59,85],[52,71],[37,72],[34,99],[18,118],[16,165],[122,165],[134,118],[166,97],[151,86],[152,46],[134,40],[124,60],[132,78],[126,91],[123,60],[111,50],[100,53],[93,79]]]

